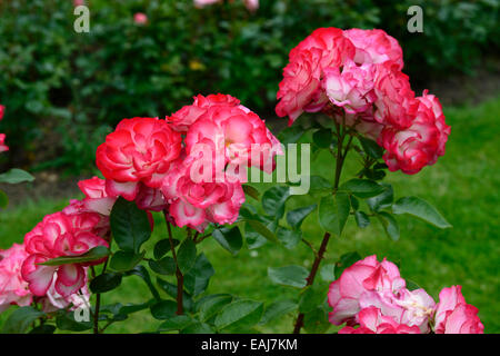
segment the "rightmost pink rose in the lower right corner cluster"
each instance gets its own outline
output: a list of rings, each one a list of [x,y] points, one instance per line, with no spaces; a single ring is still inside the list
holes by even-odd
[[[461,289],[461,286],[452,286],[439,293],[436,334],[483,334],[484,326],[478,317],[478,309],[466,303]]]

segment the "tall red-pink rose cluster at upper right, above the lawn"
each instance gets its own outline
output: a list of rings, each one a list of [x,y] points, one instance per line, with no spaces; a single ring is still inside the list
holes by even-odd
[[[320,28],[290,51],[276,112],[289,125],[323,111],[386,149],[389,169],[412,175],[444,155],[450,127],[439,99],[417,97],[398,41],[382,30]]]

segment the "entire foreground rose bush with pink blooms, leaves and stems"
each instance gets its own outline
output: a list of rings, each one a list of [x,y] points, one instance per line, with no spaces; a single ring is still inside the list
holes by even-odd
[[[9,278],[0,279],[0,305],[20,306],[7,330],[27,330],[16,324],[21,314],[48,332],[57,326],[98,334],[149,308],[163,320],[158,333],[248,330],[288,313],[297,314],[294,333],[322,333],[331,324],[346,324],[341,334],[482,333],[478,310],[459,286],[444,288],[436,304],[423,288],[411,287],[396,264],[374,255],[361,259],[348,253],[321,268],[329,290],[316,283],[330,237],[340,237],[350,217],[361,228],[378,220],[394,240],[397,215],[451,227],[426,200],[394,199],[392,186],[381,181],[386,169],[413,175],[436,164],[450,134],[438,98],[427,91],[416,97],[402,69],[402,49],[386,32],[321,28],[291,50],[283,69],[276,111],[288,116],[290,127],[279,139],[256,112],[222,93],[198,95],[164,119],[123,119],[97,149],[103,178],[80,181],[82,199],[46,216],[23,245],[1,254],[0,270]],[[249,185],[249,170],[272,175],[277,156],[284,154],[281,144],[307,135],[314,155],[328,150],[334,158],[333,177],[301,176],[310,178],[310,195],[319,204],[287,209],[301,182],[290,170],[290,181],[260,197]],[[359,155],[361,167],[344,180],[350,152]],[[156,229],[154,212],[162,212],[167,236],[150,251],[144,243]],[[318,248],[301,229],[313,212],[324,230]],[[243,236],[251,249],[268,241],[311,249],[310,270],[268,268],[271,280],[301,289],[296,299],[272,300],[264,308],[261,301],[206,293],[214,269],[200,244],[212,237],[237,255]],[[102,294],[132,275],[143,279],[150,299],[101,305]],[[82,308],[90,309],[91,320],[77,323]]]

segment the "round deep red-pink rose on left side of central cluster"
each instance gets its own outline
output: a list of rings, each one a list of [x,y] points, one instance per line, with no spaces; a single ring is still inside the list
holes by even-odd
[[[159,188],[181,151],[181,136],[166,120],[124,119],[97,149],[97,166],[107,181],[108,192],[133,200],[139,182]]]

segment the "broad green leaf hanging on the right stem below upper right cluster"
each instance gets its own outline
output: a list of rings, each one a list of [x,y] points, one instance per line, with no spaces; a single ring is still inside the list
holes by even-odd
[[[351,204],[349,196],[344,192],[337,192],[334,196],[328,195],[320,201],[319,220],[327,231],[340,236],[349,217]]]

